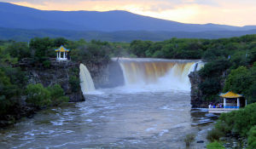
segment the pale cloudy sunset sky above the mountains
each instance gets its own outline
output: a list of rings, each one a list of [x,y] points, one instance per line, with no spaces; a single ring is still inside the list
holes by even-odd
[[[42,10],[126,10],[182,23],[256,25],[256,0],[2,0]]]

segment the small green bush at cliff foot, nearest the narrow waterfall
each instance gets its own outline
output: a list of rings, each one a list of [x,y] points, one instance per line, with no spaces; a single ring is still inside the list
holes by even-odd
[[[61,105],[63,102],[68,102],[69,98],[65,96],[61,85],[55,84],[47,88],[49,90],[50,100],[53,106]]]

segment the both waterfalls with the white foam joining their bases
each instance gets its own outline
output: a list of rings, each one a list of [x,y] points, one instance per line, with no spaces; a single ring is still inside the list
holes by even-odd
[[[95,89],[90,72],[80,65],[80,85],[84,95],[139,93],[158,91],[189,91],[189,73],[199,71],[204,63],[198,60],[119,59],[125,86]],[[195,70],[195,66],[196,70]],[[113,72],[114,73],[114,72]]]

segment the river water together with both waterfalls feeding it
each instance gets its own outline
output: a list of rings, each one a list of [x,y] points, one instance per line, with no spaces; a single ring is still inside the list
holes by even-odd
[[[195,61],[124,60],[125,85],[94,89],[86,101],[38,112],[0,129],[0,148],[204,148],[216,116],[191,109],[188,74]],[[85,66],[83,78],[90,80]],[[85,74],[86,73],[86,74]],[[86,77],[86,78],[84,78]],[[204,140],[204,143],[196,143]]]

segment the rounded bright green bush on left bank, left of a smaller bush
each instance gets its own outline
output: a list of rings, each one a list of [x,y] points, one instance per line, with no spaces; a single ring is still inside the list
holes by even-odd
[[[40,108],[51,104],[50,92],[48,89],[44,89],[41,83],[27,85],[26,95],[26,102],[32,106]]]

